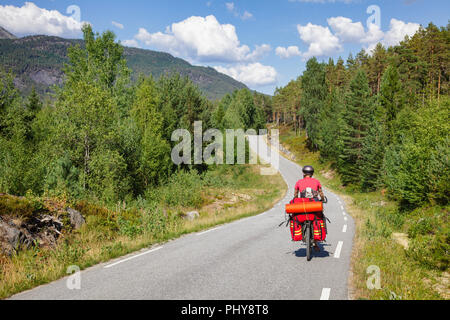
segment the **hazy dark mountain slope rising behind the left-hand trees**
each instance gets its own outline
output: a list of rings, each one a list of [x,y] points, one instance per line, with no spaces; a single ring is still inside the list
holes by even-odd
[[[0,38],[8,34],[13,36],[3,28],[0,30]],[[33,85],[39,93],[48,93],[52,85],[62,83],[62,67],[68,62],[67,49],[75,44],[83,46],[84,42],[52,36],[3,38],[0,39],[0,67],[16,75],[15,84],[24,94],[28,94]],[[151,74],[156,79],[166,73],[180,73],[188,76],[211,100],[246,88],[211,67],[193,66],[168,53],[125,47],[124,56],[134,79],[141,73]]]

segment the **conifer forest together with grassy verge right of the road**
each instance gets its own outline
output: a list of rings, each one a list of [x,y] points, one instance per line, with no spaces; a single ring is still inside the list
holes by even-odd
[[[356,299],[449,299],[449,34],[430,24],[371,56],[313,58],[273,98],[281,142],[356,220]]]

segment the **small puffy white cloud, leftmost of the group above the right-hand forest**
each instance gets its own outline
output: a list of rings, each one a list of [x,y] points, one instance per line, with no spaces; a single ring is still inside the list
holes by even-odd
[[[306,26],[297,25],[300,38],[309,44],[308,51],[303,54],[304,59],[333,55],[342,50],[342,45],[328,27],[308,23]]]

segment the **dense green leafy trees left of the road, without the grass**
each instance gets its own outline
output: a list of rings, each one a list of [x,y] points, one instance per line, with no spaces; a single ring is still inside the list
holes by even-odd
[[[1,191],[107,203],[145,196],[180,169],[170,158],[173,130],[193,132],[195,121],[203,121],[203,130],[217,124],[212,115],[223,104],[206,99],[188,78],[132,81],[113,33],[95,35],[87,27],[84,36],[85,47],[68,49],[65,81],[55,101],[43,104],[35,90],[22,98],[14,75],[1,72]],[[61,44],[61,52],[64,48]],[[60,58],[55,55],[55,63]],[[255,104],[260,96],[242,89],[233,97],[225,115],[234,127],[262,128],[264,111]]]

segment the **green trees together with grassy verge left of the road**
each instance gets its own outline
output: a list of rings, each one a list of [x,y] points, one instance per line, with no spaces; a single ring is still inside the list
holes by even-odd
[[[22,98],[0,71],[0,298],[68,266],[261,213],[286,191],[259,165],[171,159],[172,132],[193,136],[195,121],[203,131],[264,128],[264,96],[243,89],[212,102],[179,75],[132,81],[114,34],[83,32],[85,46],[68,50],[64,83],[45,102],[36,90]]]

